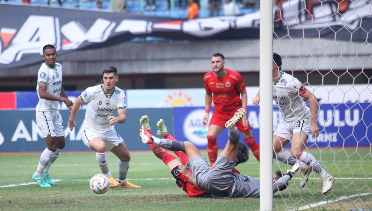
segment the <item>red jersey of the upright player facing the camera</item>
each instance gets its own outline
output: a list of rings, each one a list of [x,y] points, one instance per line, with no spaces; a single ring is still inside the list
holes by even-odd
[[[210,71],[204,75],[206,92],[212,92],[214,111],[235,111],[241,107],[240,93],[246,90],[246,85],[240,73],[225,69],[226,76],[217,78]]]

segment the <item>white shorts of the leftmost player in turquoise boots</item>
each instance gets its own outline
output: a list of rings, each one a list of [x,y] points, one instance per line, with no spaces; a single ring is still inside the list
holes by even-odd
[[[57,111],[36,111],[36,124],[38,125],[42,137],[65,136],[65,126],[60,112]]]

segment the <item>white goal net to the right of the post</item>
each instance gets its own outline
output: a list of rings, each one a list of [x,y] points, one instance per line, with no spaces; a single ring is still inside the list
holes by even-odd
[[[314,169],[303,188],[298,173],[289,188],[273,196],[274,210],[372,209],[371,7],[368,0],[274,5],[273,51],[282,56],[282,71],[317,97],[320,134],[310,135],[305,152],[335,179],[332,190],[322,194]],[[280,119],[276,107],[274,127]],[[284,148],[291,151],[290,144]],[[274,160],[274,171],[288,167]]]

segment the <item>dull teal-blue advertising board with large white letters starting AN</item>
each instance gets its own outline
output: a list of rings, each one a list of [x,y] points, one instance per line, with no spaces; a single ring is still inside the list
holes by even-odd
[[[81,141],[85,110],[80,110],[76,116],[76,125],[73,131],[67,127],[69,112],[60,111],[65,127],[66,146],[64,151],[90,151]],[[115,114],[117,115],[117,113]],[[141,142],[138,135],[140,118],[143,115],[150,117],[150,125],[155,126],[162,118],[167,124],[168,131],[173,133],[173,111],[168,109],[128,109],[124,124],[115,125],[115,130],[125,141],[129,150],[149,150],[150,147]],[[10,118],[11,117],[11,118]],[[34,111],[0,111],[0,152],[43,151],[47,144],[41,137],[36,125]],[[153,130],[155,130],[153,128]],[[155,130],[156,132],[156,130]]]

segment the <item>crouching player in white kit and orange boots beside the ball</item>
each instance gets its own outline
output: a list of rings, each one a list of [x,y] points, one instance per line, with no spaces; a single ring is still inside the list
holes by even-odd
[[[76,127],[75,117],[80,106],[87,103],[84,119],[84,130],[81,133],[83,143],[96,151],[96,160],[110,181],[110,187],[141,188],[126,180],[130,154],[123,139],[115,131],[113,125],[126,120],[125,93],[115,86],[119,77],[115,67],[109,66],[102,71],[103,84],[88,87],[80,97],[76,98],[68,119],[68,127]],[[113,116],[118,111],[118,116]],[[119,182],[109,171],[106,149],[118,157]]]

